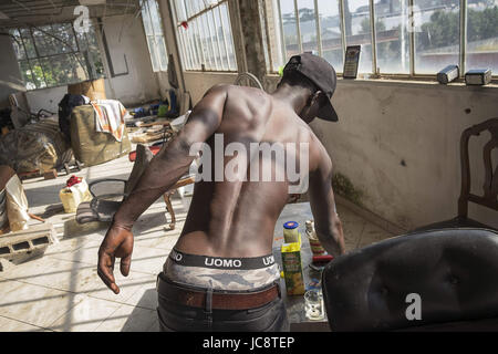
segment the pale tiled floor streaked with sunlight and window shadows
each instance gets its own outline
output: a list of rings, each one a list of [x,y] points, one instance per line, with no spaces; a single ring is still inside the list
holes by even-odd
[[[132,167],[133,163],[124,156],[83,168],[76,175],[89,181],[106,177],[126,179]],[[58,242],[21,263],[1,261],[0,331],[158,331],[156,275],[181,231],[189,189],[183,197],[176,195],[172,199],[177,218],[175,230],[168,230],[162,200],[139,218],[134,227],[132,271],[127,278],[116,272],[121,293],[115,295],[96,273],[97,250],[108,223],[79,225],[74,214],[64,214],[59,190],[68,178],[62,175],[56,179],[40,177],[23,181],[30,211],[54,226]],[[338,205],[338,211],[347,250],[394,236],[342,204]],[[288,205],[274,237],[281,237],[281,221],[292,219],[303,226],[310,217],[309,204]]]

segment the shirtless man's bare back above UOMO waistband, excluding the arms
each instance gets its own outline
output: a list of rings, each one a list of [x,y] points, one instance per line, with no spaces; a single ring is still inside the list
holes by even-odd
[[[311,149],[323,148],[310,127],[292,110],[261,90],[229,85],[214,90],[219,94],[227,93],[221,124],[215,132],[222,135],[224,149],[232,142],[242,142],[248,153],[250,143],[292,143],[297,146],[308,143]],[[215,152],[214,136],[206,142],[211,152]],[[263,159],[261,154],[258,157]],[[224,167],[231,158],[236,157],[225,158]],[[289,200],[289,181],[287,176],[284,181],[274,180],[274,169],[283,169],[284,173],[284,166],[276,158],[261,159],[259,169],[270,168],[273,171],[272,181],[249,180],[251,166],[248,164],[247,181],[196,184],[176,249],[217,257],[271,253],[276,222]]]

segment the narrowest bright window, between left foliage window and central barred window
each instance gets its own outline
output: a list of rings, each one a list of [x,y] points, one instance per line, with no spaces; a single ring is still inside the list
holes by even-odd
[[[142,21],[144,22],[145,37],[147,38],[153,71],[167,71],[168,55],[157,0],[142,1]]]

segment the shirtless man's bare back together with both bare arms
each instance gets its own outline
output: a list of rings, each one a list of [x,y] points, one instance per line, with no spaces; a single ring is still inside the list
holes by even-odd
[[[107,287],[120,292],[113,275],[115,258],[121,258],[121,272],[127,275],[134,221],[188,171],[195,158],[191,154],[195,144],[206,143],[214,150],[211,165],[215,167],[212,174],[216,173],[215,165],[221,163],[216,159],[216,135],[222,136],[224,148],[230,143],[245,146],[253,143],[308,144],[305,173],[317,233],[330,253],[343,253],[342,227],[331,186],[332,163],[307,124],[314,118],[313,107],[319,105],[317,97],[310,101],[305,98],[308,95],[293,86],[284,86],[272,95],[231,85],[210,88],[195,106],[179,135],[153,159],[116,212],[98,251],[98,274]],[[224,157],[221,168],[232,158]],[[283,168],[276,158],[263,158],[259,166],[260,169],[270,168],[274,174]],[[250,171],[251,166],[247,165],[245,174]],[[190,254],[228,258],[271,253],[273,230],[289,199],[289,185],[288,176],[282,181],[196,183],[187,220],[175,248]]]

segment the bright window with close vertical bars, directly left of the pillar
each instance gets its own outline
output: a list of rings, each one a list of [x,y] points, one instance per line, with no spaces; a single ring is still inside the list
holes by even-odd
[[[172,0],[185,70],[237,71],[228,1]]]

